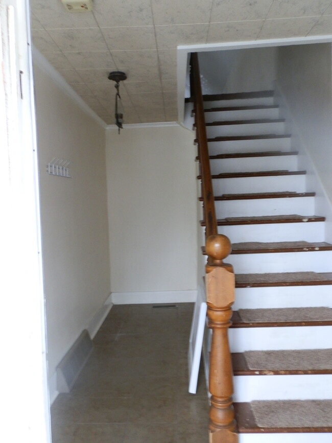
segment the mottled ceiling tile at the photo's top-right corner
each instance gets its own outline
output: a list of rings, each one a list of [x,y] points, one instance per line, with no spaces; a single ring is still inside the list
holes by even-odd
[[[268,18],[321,15],[330,4],[330,0],[274,0]]]

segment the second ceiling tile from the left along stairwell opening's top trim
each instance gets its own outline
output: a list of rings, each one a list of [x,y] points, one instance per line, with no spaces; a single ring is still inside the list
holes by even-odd
[[[264,20],[211,23],[207,42],[255,40]]]

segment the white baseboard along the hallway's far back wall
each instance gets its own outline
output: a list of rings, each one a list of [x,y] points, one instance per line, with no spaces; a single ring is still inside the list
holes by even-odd
[[[145,303],[195,302],[197,290],[156,292],[112,292],[107,301],[114,305],[140,305]]]

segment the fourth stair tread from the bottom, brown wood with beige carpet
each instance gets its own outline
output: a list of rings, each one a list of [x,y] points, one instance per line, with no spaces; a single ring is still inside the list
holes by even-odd
[[[235,274],[236,288],[332,285],[332,272],[276,272]]]

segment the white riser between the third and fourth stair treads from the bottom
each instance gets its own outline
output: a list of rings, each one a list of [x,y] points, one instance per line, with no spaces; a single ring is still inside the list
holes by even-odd
[[[226,259],[228,262],[228,258]],[[234,311],[271,308],[332,308],[332,285],[236,288]]]

